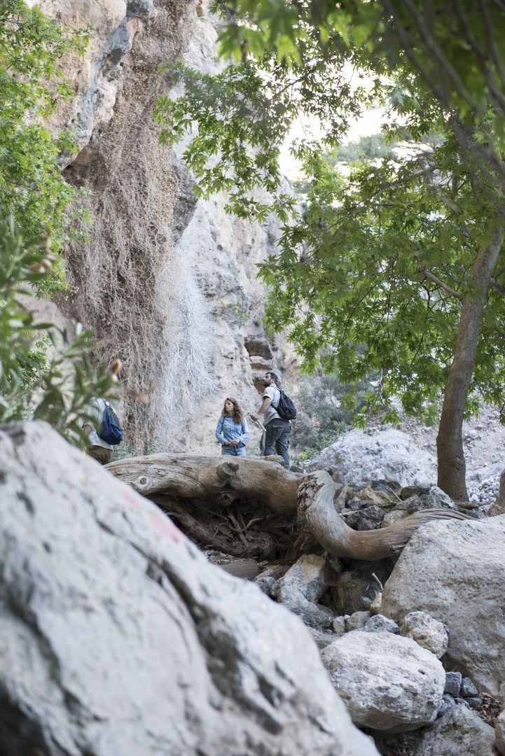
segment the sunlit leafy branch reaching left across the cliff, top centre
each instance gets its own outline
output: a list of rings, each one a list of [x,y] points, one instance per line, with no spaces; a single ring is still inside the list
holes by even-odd
[[[287,221],[294,201],[285,191],[278,159],[293,119],[331,120],[328,138],[337,141],[364,98],[342,71],[340,51],[324,58],[317,53],[318,39],[309,36],[293,66],[266,52],[215,76],[183,64],[172,70],[172,83],[183,83],[184,95],[160,97],[155,117],[163,124],[162,143],[173,144],[198,123],[183,155],[198,180],[198,195],[224,190],[226,209],[240,218],[263,221],[276,212]],[[333,118],[336,112],[339,119]],[[263,197],[255,192],[258,187]]]

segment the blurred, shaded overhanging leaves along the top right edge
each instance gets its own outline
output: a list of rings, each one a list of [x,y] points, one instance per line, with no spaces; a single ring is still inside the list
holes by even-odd
[[[505,178],[505,6],[472,0],[215,0],[226,22],[221,52],[261,60],[265,50],[284,65],[303,60],[307,39],[318,57],[340,54],[376,76],[409,68],[420,98],[434,95],[451,113],[451,130],[482,169]],[[399,93],[401,96],[401,92]],[[482,121],[485,139],[475,139]]]

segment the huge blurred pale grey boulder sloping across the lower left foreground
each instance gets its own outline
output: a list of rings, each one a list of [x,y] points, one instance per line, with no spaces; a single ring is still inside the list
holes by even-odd
[[[0,502],[2,754],[376,754],[298,618],[44,423]]]

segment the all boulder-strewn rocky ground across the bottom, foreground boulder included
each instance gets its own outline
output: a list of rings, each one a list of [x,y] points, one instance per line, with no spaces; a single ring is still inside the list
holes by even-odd
[[[314,546],[246,581],[45,423],[0,429],[0,502],[6,756],[505,754],[505,516],[488,504],[342,484],[333,507],[363,533],[465,516],[386,559]]]

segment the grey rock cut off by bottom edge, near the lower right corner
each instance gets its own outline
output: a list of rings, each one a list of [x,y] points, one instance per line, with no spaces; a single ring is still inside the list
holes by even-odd
[[[466,706],[453,706],[423,735],[415,756],[493,756],[494,730]]]

